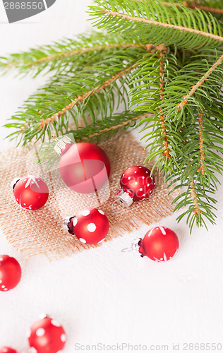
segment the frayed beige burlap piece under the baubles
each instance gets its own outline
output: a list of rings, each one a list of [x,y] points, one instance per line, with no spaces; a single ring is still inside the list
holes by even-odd
[[[111,176],[109,186],[105,186],[97,195],[82,195],[68,189],[60,177],[58,165],[44,172],[42,167],[37,165],[35,148],[10,148],[1,152],[0,226],[8,241],[18,251],[25,251],[26,256],[44,253],[52,258],[52,256],[68,256],[90,247],[103,246],[103,244],[95,246],[82,244],[57,224],[66,215],[75,215],[83,208],[96,207],[104,210],[109,219],[109,234],[106,241],[119,237],[126,231],[132,231],[139,227],[140,222],[150,225],[162,217],[171,215],[173,198],[168,196],[162,177],[157,175],[157,171],[155,171],[156,189],[150,198],[133,202],[130,208],[124,209],[119,214],[113,213],[111,204],[114,201],[114,194],[120,188],[121,174],[132,165],[143,164],[147,151],[143,150],[131,133],[125,133],[120,138],[110,138],[100,145],[109,155]],[[148,164],[145,166],[151,167]],[[23,210],[14,200],[10,185],[12,179],[28,174],[42,177],[49,186],[49,200],[40,210]]]

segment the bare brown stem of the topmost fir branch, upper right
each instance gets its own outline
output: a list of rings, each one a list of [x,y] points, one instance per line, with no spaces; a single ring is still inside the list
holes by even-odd
[[[105,13],[107,16],[125,18],[126,20],[131,20],[133,22],[147,23],[148,25],[157,25],[159,27],[164,27],[164,28],[173,28],[174,30],[179,30],[180,32],[185,31],[185,32],[195,33],[197,35],[202,35],[203,37],[209,37],[209,38],[212,38],[213,40],[218,40],[219,42],[223,42],[223,37],[219,35],[213,35],[212,33],[209,33],[209,32],[203,32],[202,30],[195,30],[193,28],[183,27],[181,25],[171,25],[169,23],[157,22],[155,20],[146,20],[145,18],[128,16],[128,15],[125,15],[124,13],[119,13],[116,11],[109,11],[105,9],[101,9],[101,11],[102,13]]]

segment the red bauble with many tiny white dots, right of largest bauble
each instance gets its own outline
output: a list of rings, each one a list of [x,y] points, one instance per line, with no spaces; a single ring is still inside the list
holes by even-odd
[[[144,200],[152,195],[155,189],[155,177],[150,169],[140,165],[129,167],[123,172],[120,180],[121,190],[116,193],[115,199],[123,206],[130,206],[134,201]]]

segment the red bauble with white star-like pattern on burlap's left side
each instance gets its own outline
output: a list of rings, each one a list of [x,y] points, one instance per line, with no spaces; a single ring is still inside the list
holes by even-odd
[[[47,202],[49,189],[41,178],[29,175],[15,182],[12,182],[13,193],[23,210],[38,210]]]

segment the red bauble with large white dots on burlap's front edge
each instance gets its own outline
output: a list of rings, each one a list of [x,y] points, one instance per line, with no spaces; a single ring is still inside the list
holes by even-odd
[[[64,228],[85,244],[97,244],[104,241],[109,232],[109,221],[102,210],[87,208],[75,217],[66,217]]]

